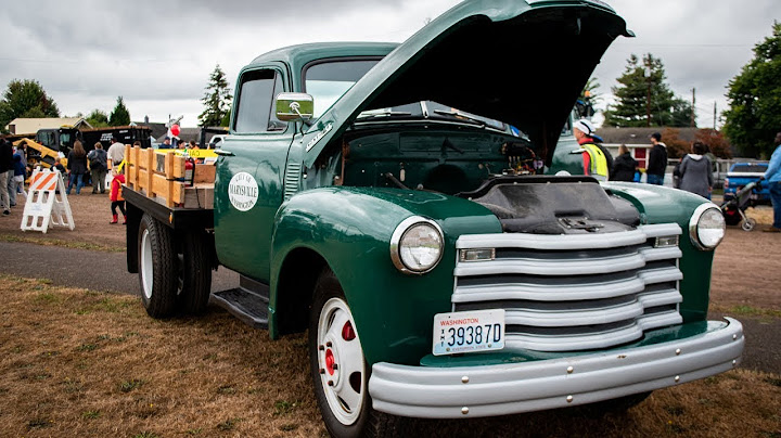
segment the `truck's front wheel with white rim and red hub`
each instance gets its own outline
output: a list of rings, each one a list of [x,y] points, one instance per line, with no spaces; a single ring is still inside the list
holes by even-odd
[[[309,364],[318,408],[332,436],[398,434],[400,418],[371,408],[363,348],[342,286],[331,270],[320,275],[315,287]]]

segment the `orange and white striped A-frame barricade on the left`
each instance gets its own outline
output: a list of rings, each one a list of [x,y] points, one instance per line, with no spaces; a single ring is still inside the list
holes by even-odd
[[[22,231],[41,231],[49,227],[65,227],[73,230],[76,226],[67,202],[65,183],[55,168],[33,170],[22,216]]]

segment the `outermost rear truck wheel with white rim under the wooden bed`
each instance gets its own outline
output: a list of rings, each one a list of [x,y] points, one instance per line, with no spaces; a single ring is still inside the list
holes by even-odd
[[[143,215],[138,245],[141,302],[152,318],[170,317],[176,310],[177,298],[174,232]]]

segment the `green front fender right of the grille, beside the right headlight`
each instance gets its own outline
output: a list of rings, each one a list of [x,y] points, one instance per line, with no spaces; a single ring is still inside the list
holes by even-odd
[[[633,182],[609,182],[603,186],[611,193],[629,202],[640,211],[643,223],[676,222],[683,231],[680,236],[680,270],[683,280],[680,292],[683,302],[680,313],[683,322],[705,321],[710,295],[710,270],[714,252],[700,250],[689,236],[689,220],[694,210],[710,204],[702,196],[677,189]],[[715,206],[715,205],[714,205]]]

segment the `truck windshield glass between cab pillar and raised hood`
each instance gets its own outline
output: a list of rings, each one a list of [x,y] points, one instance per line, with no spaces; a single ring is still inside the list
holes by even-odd
[[[313,118],[320,117],[380,59],[341,60],[309,65],[304,69],[304,91],[315,99]]]

